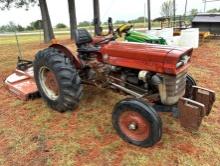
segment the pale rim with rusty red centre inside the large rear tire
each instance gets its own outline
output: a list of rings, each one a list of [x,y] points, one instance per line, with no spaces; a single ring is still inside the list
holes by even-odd
[[[59,96],[59,86],[55,74],[47,67],[42,67],[40,69],[39,77],[44,93],[51,100],[56,100]]]

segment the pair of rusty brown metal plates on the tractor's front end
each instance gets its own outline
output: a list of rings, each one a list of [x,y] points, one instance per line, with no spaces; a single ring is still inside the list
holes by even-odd
[[[215,101],[215,92],[194,86],[192,99],[180,98],[180,124],[189,130],[198,130],[202,119],[209,115]]]

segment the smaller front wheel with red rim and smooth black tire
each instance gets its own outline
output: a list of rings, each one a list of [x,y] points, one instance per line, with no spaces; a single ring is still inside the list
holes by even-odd
[[[124,141],[136,146],[151,147],[162,136],[160,116],[139,99],[124,99],[117,103],[112,114],[112,123]]]

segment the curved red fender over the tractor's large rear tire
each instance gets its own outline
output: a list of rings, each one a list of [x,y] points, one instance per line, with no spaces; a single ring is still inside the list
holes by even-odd
[[[76,66],[77,69],[81,68],[82,65],[81,65],[79,59],[76,56],[74,56],[73,53],[65,46],[63,46],[61,44],[52,44],[49,47],[58,49],[59,51],[64,53],[73,62],[73,64]]]

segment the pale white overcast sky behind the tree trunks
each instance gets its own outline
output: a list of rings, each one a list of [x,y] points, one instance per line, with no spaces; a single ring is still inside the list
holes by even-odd
[[[75,0],[77,21],[91,21],[93,19],[93,0]],[[160,17],[161,4],[166,0],[151,0],[152,18]],[[197,8],[203,12],[203,0],[188,0],[189,12],[192,8]],[[53,26],[58,23],[69,25],[67,0],[47,0],[49,13]],[[139,16],[144,16],[144,4],[147,0],[100,0],[101,19],[107,21],[110,16],[113,20],[131,20]],[[176,0],[177,14],[184,13],[185,0]],[[220,8],[220,1],[207,3],[206,9]],[[24,8],[11,8],[9,11],[0,11],[0,26],[12,21],[15,24],[27,26],[30,22],[41,19],[38,6],[31,7],[29,11]]]

